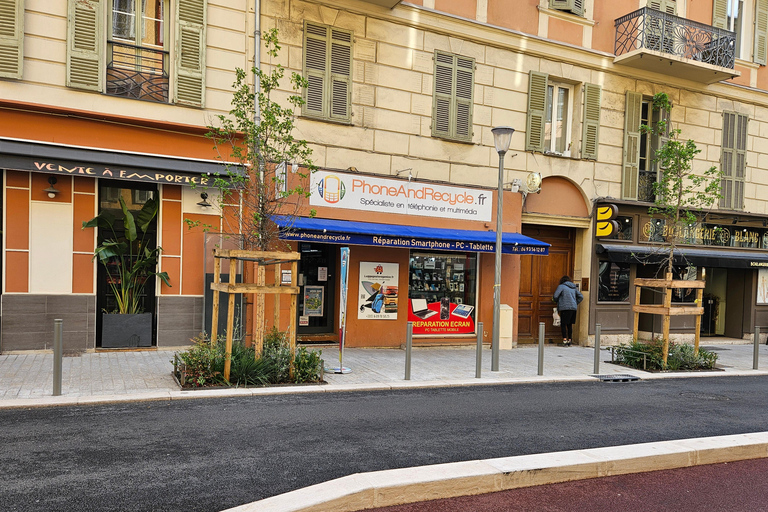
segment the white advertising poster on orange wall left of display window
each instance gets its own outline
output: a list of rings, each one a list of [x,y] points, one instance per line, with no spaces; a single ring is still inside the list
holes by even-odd
[[[398,263],[360,262],[357,318],[397,320]]]

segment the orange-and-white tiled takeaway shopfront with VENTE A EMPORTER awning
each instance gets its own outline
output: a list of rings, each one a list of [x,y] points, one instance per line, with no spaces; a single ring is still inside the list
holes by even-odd
[[[66,351],[105,346],[102,316],[114,304],[105,266],[93,255],[97,235],[108,234],[82,224],[104,209],[121,219],[120,199],[134,211],[150,199],[159,203],[147,231],[151,245],[162,247],[159,267],[171,284],[147,283],[142,302],[151,314],[151,337],[121,346],[188,345],[204,325],[205,244],[203,228],[190,229],[185,220],[214,230],[221,221],[214,206],[205,206],[215,205],[215,198],[201,200],[205,176],[221,169],[210,141],[168,127],[6,114],[14,118],[9,125],[17,138],[0,133],[0,351],[50,349],[57,318],[63,320]]]

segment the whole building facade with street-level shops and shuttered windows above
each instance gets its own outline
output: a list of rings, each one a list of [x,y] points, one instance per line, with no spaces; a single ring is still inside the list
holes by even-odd
[[[96,234],[80,225],[123,194],[137,204],[150,195],[161,202],[156,237],[173,286],[156,284],[147,299],[156,314],[153,344],[182,344],[202,328],[210,273],[203,263],[206,235],[185,219],[221,225],[217,212],[198,204],[192,180],[215,167],[206,126],[229,110],[234,69],[251,67],[253,34],[271,28],[278,29],[282,50],[276,59],[261,52],[256,60],[265,70],[280,64],[307,78],[295,135],[310,142],[320,168],[308,205],[317,216],[307,215],[290,240],[305,256],[298,318],[305,339],[337,339],[339,248],[347,241],[350,345],[399,345],[408,319],[426,322],[417,313],[434,317],[445,305],[447,328],[455,321],[467,331],[425,330],[417,333],[420,342],[474,340],[478,321],[490,332],[491,254],[435,244],[448,239],[437,230],[466,230],[467,244],[483,244],[488,235],[482,232],[494,231],[496,126],[516,129],[502,174],[504,232],[548,244],[547,256],[514,253],[512,245],[503,257],[501,295],[512,308],[511,338],[533,341],[540,322],[549,339],[559,338],[551,296],[565,274],[589,297],[574,338],[588,343],[600,323],[609,340],[629,339],[635,292],[628,286],[625,293],[623,283],[657,268],[619,248],[659,243],[642,226],[655,222],[647,211],[658,179],[653,152],[663,141],[639,130],[658,121],[661,114],[651,108],[658,92],[674,104],[671,123],[702,149],[694,168],[715,165],[724,172],[724,197],[710,217],[701,212],[696,229],[703,234],[714,229],[713,219],[720,226],[731,219],[751,240],[717,245],[702,235],[686,250],[755,262],[739,270],[739,300],[720,296],[727,287],[717,283],[732,277],[728,265],[713,270],[712,260],[683,258],[685,275],[712,279],[708,293],[722,309],[711,317],[742,318],[742,337],[762,318],[768,1],[520,0],[514,8],[508,0],[139,4],[4,2],[0,349],[45,348],[47,341],[33,340],[50,338],[57,314],[72,315],[66,317],[72,348],[100,346],[100,277],[91,261]],[[283,91],[289,90],[286,81]],[[44,194],[49,178],[57,179],[53,198]],[[362,189],[352,190],[354,180],[367,183],[367,195],[355,195]],[[408,201],[387,192],[400,187],[405,197],[431,188],[446,194],[438,199],[483,196],[488,202],[483,208],[448,204],[442,213],[439,201],[422,201],[410,211]],[[401,202],[408,211],[398,209]],[[621,231],[626,239],[597,237],[594,211],[604,204],[616,204],[619,216],[631,220]],[[366,223],[374,226],[358,225]],[[400,226],[403,236],[388,226]],[[332,229],[336,238],[330,239]],[[355,235],[356,229],[362,231]],[[408,238],[414,242],[393,246],[409,229],[418,234]],[[429,229],[432,236],[423,231]],[[742,237],[729,233],[730,240]],[[389,284],[376,279],[384,275]],[[675,332],[690,334],[691,323],[680,322]],[[641,323],[654,332],[652,321]],[[739,337],[733,326],[711,329]]]

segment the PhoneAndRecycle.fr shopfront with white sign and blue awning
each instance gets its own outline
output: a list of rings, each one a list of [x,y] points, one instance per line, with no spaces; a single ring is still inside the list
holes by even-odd
[[[325,170],[311,180],[316,216],[276,219],[301,254],[300,341],[338,342],[348,248],[346,346],[400,346],[409,321],[417,343],[475,343],[478,322],[490,342],[494,190]],[[520,195],[503,199],[501,303],[516,312],[520,254],[546,257],[548,244],[519,234]]]

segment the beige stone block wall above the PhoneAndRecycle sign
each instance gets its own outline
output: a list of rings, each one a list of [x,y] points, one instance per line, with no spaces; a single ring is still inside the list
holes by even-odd
[[[745,210],[768,212],[768,100],[765,91],[728,83],[705,85],[625,66],[586,48],[564,46],[541,38],[440,16],[401,4],[379,9],[354,0],[317,3],[310,0],[264,0],[265,27],[278,26],[290,71],[301,72],[304,20],[354,31],[352,126],[299,119],[299,136],[312,142],[315,162],[326,168],[355,167],[361,172],[394,174],[412,167],[418,179],[495,187],[498,157],[491,128],[516,128],[505,160],[508,179],[531,171],[544,177],[567,176],[590,200],[620,197],[627,90],[652,95],[667,92],[675,104],[673,122],[702,153],[695,168],[719,165],[722,111],[749,115],[749,155]],[[476,60],[474,134],[472,144],[431,137],[432,56],[435,49]],[[581,148],[583,103],[580,84],[602,87],[598,161],[531,154],[524,151],[528,72],[576,84],[572,115],[572,154]]]

